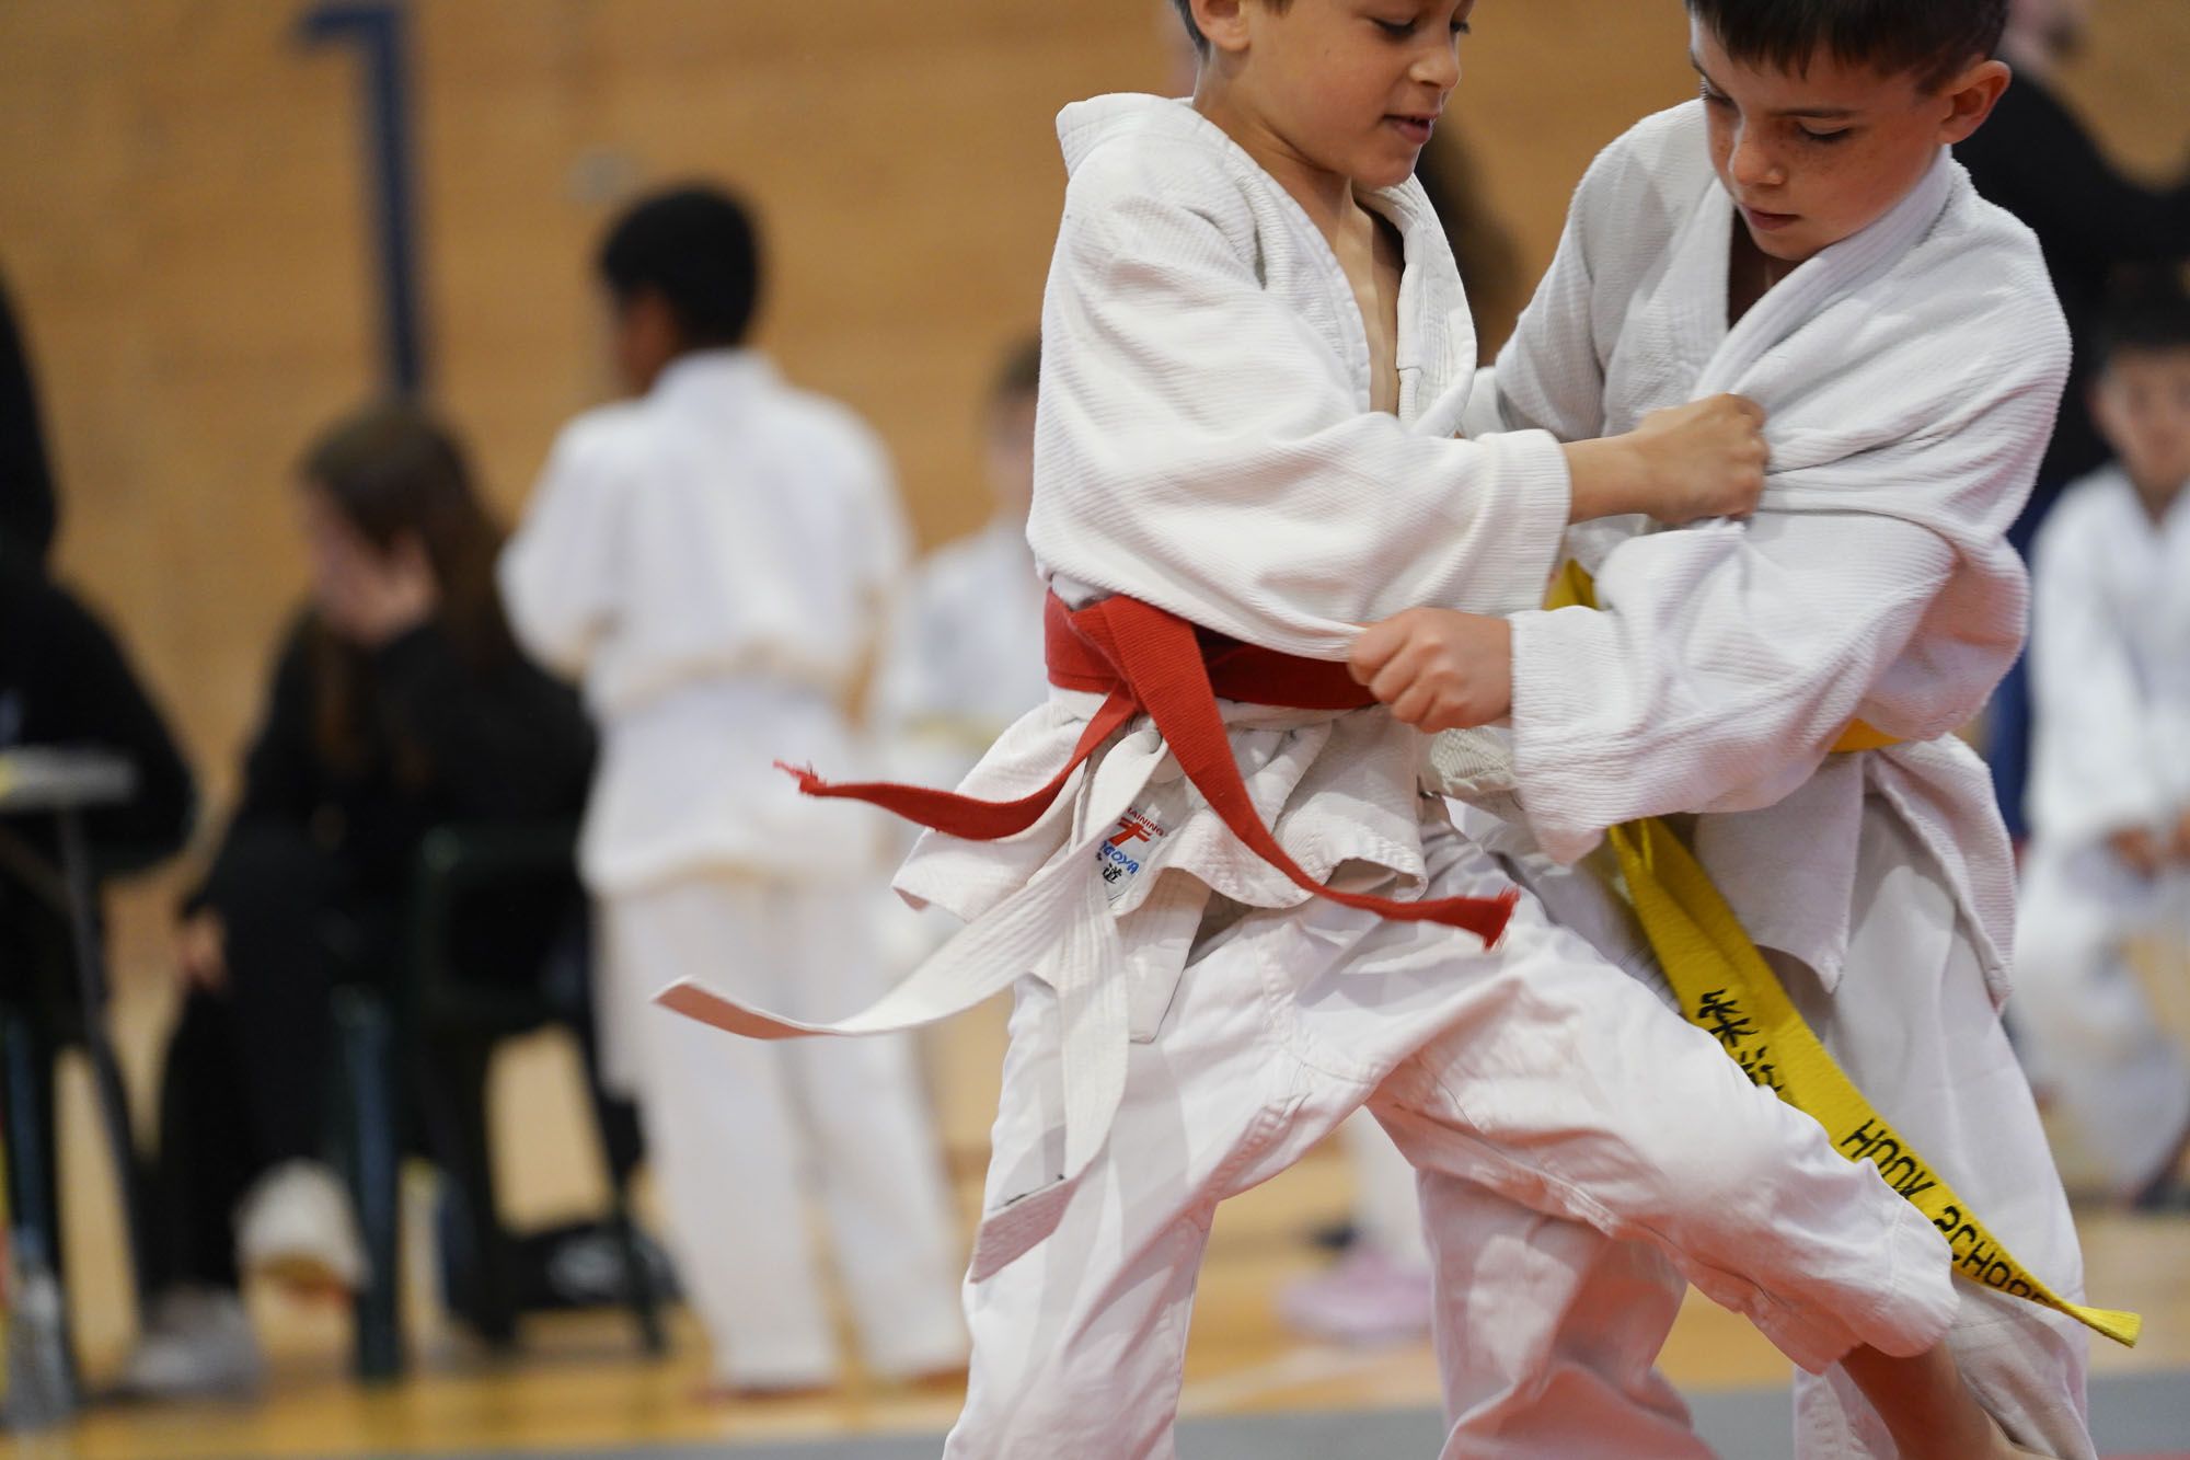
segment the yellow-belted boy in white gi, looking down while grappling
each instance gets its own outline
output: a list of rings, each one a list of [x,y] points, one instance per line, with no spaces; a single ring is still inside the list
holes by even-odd
[[[2021,636],[2004,533],[2067,373],[2035,239],[1947,153],[2008,83],[1989,59],[2004,0],[1688,11],[1702,101],[1594,162],[1469,423],[1588,438],[1741,390],[1770,410],[1756,517],[1577,528],[1605,612],[1419,612],[1356,658],[1426,728],[1511,712],[1526,826],[1561,862],[1605,826],[1702,811],[1697,859],[1842,1070],[2076,1300],[2076,1232],[1997,1017],[2008,842],[1951,734]],[[1831,754],[1857,719],[1901,743]],[[1586,888],[1546,883],[1555,914],[1557,886]],[[1515,1236],[1533,1263],[1511,1261]],[[1542,1328],[1500,1436],[1564,1434],[1579,1407],[1680,1423],[1649,1370],[1680,1300],[1662,1261],[1489,1195],[1434,1247]],[[2091,1453],[2072,1320],[1964,1285],[1953,1350],[2019,1442]],[[1844,1372],[1798,1379],[1798,1432],[1805,1456],[1897,1453]],[[1649,1453],[1708,1451],[1669,1436]]]

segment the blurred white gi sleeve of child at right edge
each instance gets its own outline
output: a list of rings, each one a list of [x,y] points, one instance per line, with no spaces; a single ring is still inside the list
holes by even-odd
[[[2148,706],[2107,592],[2107,533],[2070,498],[2039,531],[2030,693],[2037,710],[2030,820],[2063,844],[2166,815],[2172,794],[2146,741]]]

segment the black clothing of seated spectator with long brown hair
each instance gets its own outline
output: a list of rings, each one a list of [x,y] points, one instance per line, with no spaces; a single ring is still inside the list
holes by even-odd
[[[243,796],[193,908],[221,914],[226,986],[184,1000],[160,1098],[158,1285],[237,1287],[237,1204],[326,1138],[333,991],[390,984],[405,954],[410,877],[449,822],[576,820],[593,739],[576,697],[528,660],[466,662],[436,623],[370,651],[346,754],[322,734],[333,653],[309,620],[285,645]],[[528,984],[569,894],[464,905],[466,980]]]

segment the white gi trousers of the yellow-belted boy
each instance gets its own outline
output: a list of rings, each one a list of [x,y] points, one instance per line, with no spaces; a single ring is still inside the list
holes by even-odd
[[[1840,986],[1826,993],[1807,965],[1772,949],[1765,956],[1870,1105],[2010,1252],[2080,1302],[2076,1228],[1967,925],[1925,851],[1879,807],[1872,800],[1864,815]],[[1579,877],[1524,875],[1557,914],[1603,927]],[[1697,1116],[1702,1127],[1713,1120]],[[1452,1453],[1708,1458],[1678,1396],[1651,1370],[1680,1311],[1675,1267],[1660,1252],[1548,1221],[1496,1193],[1450,1188],[1424,1179],[1439,1276],[1472,1293],[1461,1309],[1439,1313]],[[2019,1442],[2056,1460],[2089,1460],[2085,1328],[1971,1282],[1956,1280],[1956,1300],[1947,1339],[1984,1407]],[[1529,1361],[1500,1379],[1505,1355]],[[1796,1375],[1796,1453],[1894,1460],[1897,1449],[1833,1368]]]

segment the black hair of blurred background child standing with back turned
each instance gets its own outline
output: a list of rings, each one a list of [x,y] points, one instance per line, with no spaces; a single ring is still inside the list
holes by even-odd
[[[753,217],[714,186],[639,199],[609,228],[598,263],[618,300],[659,294],[692,349],[742,344],[760,305]]]

